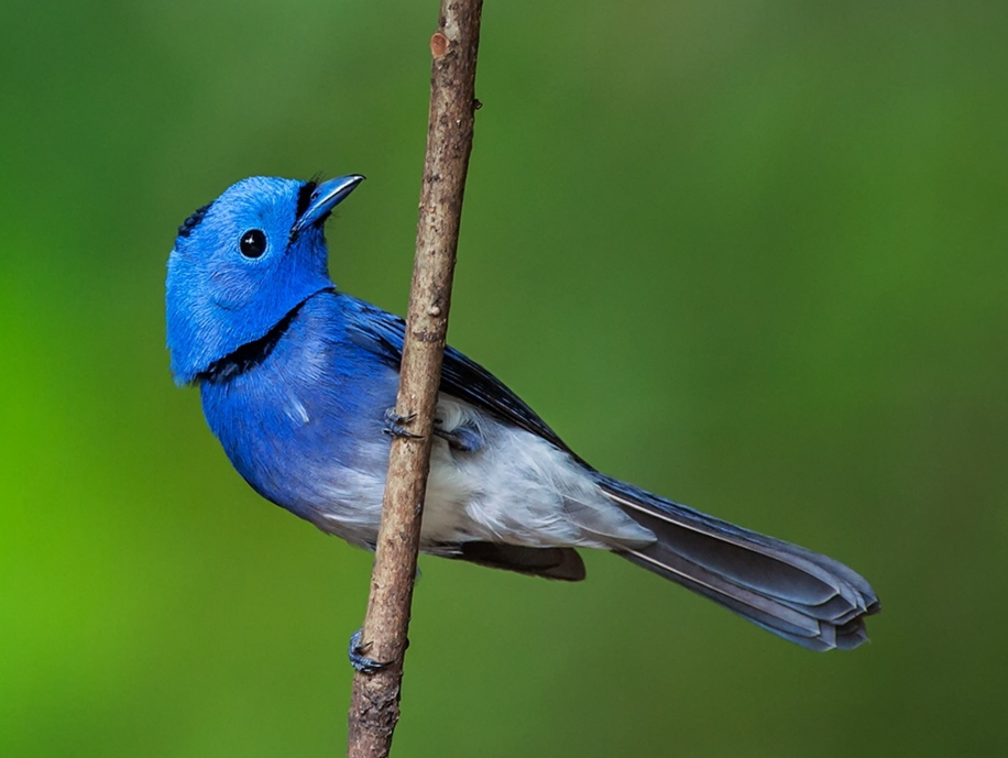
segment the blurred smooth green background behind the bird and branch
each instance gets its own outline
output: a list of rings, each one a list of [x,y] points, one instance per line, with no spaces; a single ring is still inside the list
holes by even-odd
[[[405,310],[435,2],[0,6],[0,755],[325,756],[371,559],[174,387],[176,227],[361,172]],[[452,343],[596,466],[833,554],[813,655],[614,557],[421,559],[402,756],[987,756],[1008,732],[1008,6],[489,0]]]

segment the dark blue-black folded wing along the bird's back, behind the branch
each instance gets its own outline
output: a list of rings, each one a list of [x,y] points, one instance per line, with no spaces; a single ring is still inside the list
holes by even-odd
[[[346,298],[344,312],[349,316],[347,332],[351,342],[374,353],[398,371],[406,333],[403,319],[344,293],[339,295]],[[530,431],[574,455],[557,432],[521,397],[479,363],[450,347],[445,349],[445,361],[441,364],[441,392],[481,408],[502,421]]]

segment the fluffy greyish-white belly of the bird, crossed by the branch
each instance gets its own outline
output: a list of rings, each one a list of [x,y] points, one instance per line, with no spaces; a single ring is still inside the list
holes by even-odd
[[[482,444],[453,450],[435,437],[420,549],[450,553],[461,542],[528,547],[640,547],[654,535],[616,507],[577,461],[523,429],[441,396],[440,428],[475,427]],[[372,547],[377,535],[388,440],[374,440],[365,470],[335,468],[319,488],[319,528]]]

